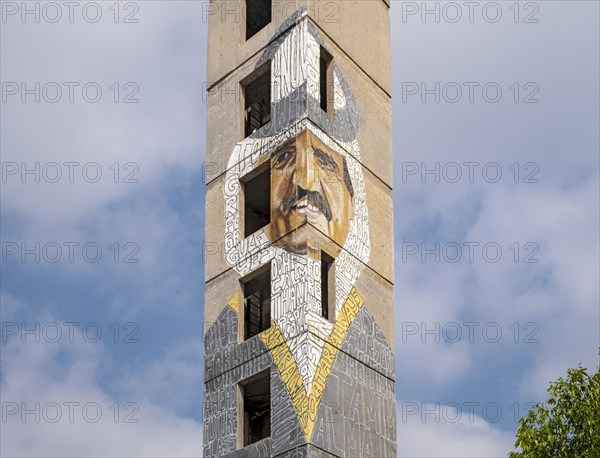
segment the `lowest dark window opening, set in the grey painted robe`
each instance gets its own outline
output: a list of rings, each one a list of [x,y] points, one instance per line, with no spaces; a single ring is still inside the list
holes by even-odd
[[[271,435],[271,371],[267,369],[239,384],[244,404],[243,446]]]

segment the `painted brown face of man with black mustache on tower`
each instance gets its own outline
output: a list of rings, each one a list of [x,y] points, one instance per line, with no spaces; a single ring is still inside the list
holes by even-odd
[[[271,160],[271,240],[308,219],[342,246],[354,211],[354,191],[343,155],[310,132],[277,148]],[[286,246],[298,254],[306,246]]]

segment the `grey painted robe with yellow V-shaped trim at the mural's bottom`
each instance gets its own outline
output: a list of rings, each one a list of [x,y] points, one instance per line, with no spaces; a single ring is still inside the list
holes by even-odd
[[[299,369],[287,344],[277,338],[276,325],[238,343],[238,312],[224,307],[205,338],[204,456],[286,456],[307,443],[337,457],[396,456],[393,353],[360,297],[356,299],[351,323],[336,325],[332,337],[322,342],[319,377],[308,394],[300,387],[290,390],[297,386]],[[271,436],[238,450],[237,385],[267,368]]]

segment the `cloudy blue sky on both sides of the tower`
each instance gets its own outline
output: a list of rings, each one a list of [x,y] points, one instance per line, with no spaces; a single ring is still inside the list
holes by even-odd
[[[55,23],[9,3],[1,452],[198,456],[206,3],[121,3],[115,22],[107,2],[97,22]],[[598,4],[499,2],[492,22],[489,3],[472,21],[461,2],[457,22],[435,2],[439,22],[421,2],[391,10],[400,456],[506,455],[514,416],[597,362]],[[21,174],[36,163],[39,183]],[[436,164],[439,182],[421,174]],[[22,416],[36,403],[39,422]]]

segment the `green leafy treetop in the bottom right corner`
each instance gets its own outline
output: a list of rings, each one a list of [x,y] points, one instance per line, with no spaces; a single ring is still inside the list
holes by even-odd
[[[517,427],[510,458],[600,457],[600,365],[589,374],[581,364],[550,383],[548,400],[534,405]]]

